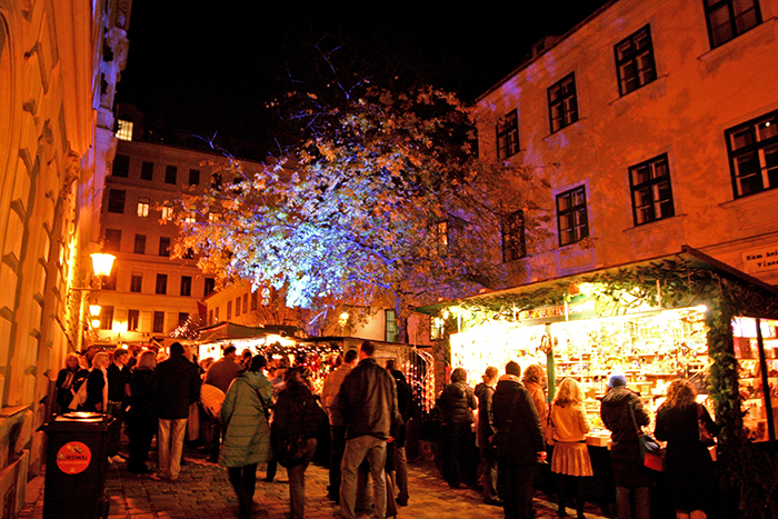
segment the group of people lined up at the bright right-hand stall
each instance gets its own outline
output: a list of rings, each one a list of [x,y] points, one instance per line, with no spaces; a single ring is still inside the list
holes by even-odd
[[[582,519],[587,478],[595,476],[584,390],[576,379],[565,378],[549,402],[543,369],[530,365],[521,375],[515,361],[502,376],[488,367],[473,389],[465,369],[451,372],[438,401],[445,426],[443,477],[451,488],[465,483],[482,491],[483,501],[501,506],[507,519],[529,519],[535,517],[535,478],[549,471],[558,516],[567,517],[572,505]],[[705,519],[716,502],[714,462],[700,429],[716,436],[718,427],[696,397],[689,381],[674,381],[656,416],[656,438],[667,442],[665,472],[677,519]],[[639,436],[650,426],[650,415],[624,375],[608,378],[600,417],[611,431],[618,518],[649,519],[656,473],[640,463]],[[473,471],[476,449],[479,463]]]

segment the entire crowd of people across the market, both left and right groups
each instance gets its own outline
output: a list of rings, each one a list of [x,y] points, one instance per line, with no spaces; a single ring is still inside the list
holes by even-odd
[[[225,348],[219,360],[199,365],[174,342],[169,357],[153,349],[88,350],[69,355],[59,372],[57,412],[69,410],[112,416],[109,462],[119,453],[121,425],[129,439],[127,469],[137,475],[174,481],[181,470],[187,440],[202,441],[208,459],[227,470],[238,497],[238,517],[249,518],[257,471],[267,465],[272,481],[277,465],[287,469],[290,485],[288,517],[305,517],[306,469],[322,439],[329,442],[328,497],[340,505],[343,519],[365,508],[365,489],[372,480],[372,517],[397,515],[409,500],[406,427],[415,412],[410,386],[393,361],[378,365],[376,348],[365,341],[338,358],[317,396],[305,366],[290,367],[261,356]],[[523,375],[523,376],[522,376]],[[482,381],[468,385],[457,368],[438,400],[442,419],[443,477],[455,489],[469,486],[485,502],[500,506],[507,519],[535,517],[533,487],[538,473],[550,472],[558,516],[568,505],[585,518],[586,478],[595,476],[586,436],[591,426],[581,386],[565,378],[551,401],[545,370],[508,362],[505,372],[486,369]],[[200,406],[202,385],[223,396],[220,407]],[[203,410],[210,410],[206,412]],[[600,415],[611,431],[611,461],[619,519],[648,519],[654,476],[639,465],[638,436],[650,415],[624,375],[608,378]],[[717,433],[688,381],[675,381],[659,407],[655,433],[667,441],[669,497],[679,519],[702,519],[712,502],[712,460],[700,441],[699,423]],[[157,437],[158,463],[152,472],[149,451]],[[477,452],[478,463],[472,462]]]

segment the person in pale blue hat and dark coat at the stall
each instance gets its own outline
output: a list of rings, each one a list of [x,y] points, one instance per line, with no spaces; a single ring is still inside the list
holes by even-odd
[[[602,398],[600,406],[600,417],[611,432],[610,458],[614,463],[619,519],[649,519],[649,487],[654,483],[654,478],[640,470],[638,435],[632,422],[632,411],[638,425],[650,423],[650,416],[644,409],[640,396],[627,387],[627,378],[622,373],[611,373],[608,377],[608,393]],[[631,512],[632,500],[635,516]]]

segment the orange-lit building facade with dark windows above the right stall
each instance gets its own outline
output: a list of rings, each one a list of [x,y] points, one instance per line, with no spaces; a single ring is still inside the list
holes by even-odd
[[[479,98],[482,156],[548,183],[503,228],[511,285],[681,244],[778,283],[777,16],[775,0],[612,1]]]

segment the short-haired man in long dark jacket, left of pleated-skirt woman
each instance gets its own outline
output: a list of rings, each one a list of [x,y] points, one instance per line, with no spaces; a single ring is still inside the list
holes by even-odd
[[[535,466],[546,461],[546,442],[532,396],[521,385],[521,368],[506,366],[492,396],[500,466],[500,496],[507,519],[528,519],[532,509]]]

